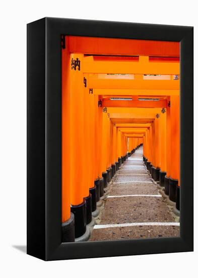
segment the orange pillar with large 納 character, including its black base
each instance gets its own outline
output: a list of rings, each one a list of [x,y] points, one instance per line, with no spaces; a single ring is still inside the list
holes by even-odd
[[[86,232],[83,55],[72,54],[71,65],[71,210],[79,238]]]

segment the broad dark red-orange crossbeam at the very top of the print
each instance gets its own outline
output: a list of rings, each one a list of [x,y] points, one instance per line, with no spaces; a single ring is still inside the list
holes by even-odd
[[[67,36],[66,45],[70,53],[179,57],[176,41]]]

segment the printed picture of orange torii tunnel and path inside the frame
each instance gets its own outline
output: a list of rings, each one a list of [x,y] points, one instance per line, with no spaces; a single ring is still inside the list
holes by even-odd
[[[179,236],[179,42],[61,36],[62,242]]]

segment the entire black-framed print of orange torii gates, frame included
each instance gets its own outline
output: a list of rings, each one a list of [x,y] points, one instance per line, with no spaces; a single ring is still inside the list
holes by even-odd
[[[193,28],[27,25],[27,253],[193,251]]]

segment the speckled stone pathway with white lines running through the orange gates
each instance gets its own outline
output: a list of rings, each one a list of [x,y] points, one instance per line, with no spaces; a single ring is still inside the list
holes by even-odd
[[[90,241],[179,236],[179,223],[144,165],[142,147],[117,171],[96,223]]]

